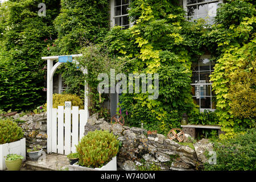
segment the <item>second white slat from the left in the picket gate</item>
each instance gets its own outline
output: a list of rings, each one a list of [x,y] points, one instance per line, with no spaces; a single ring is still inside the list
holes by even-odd
[[[64,106],[58,106],[58,154],[64,154]]]

